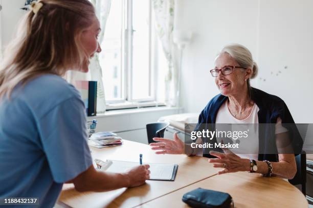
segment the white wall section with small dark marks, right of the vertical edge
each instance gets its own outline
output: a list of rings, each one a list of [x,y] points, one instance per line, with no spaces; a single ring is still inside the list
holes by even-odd
[[[281,97],[296,122],[312,123],[313,1],[260,2],[258,63],[265,81],[257,86]]]

